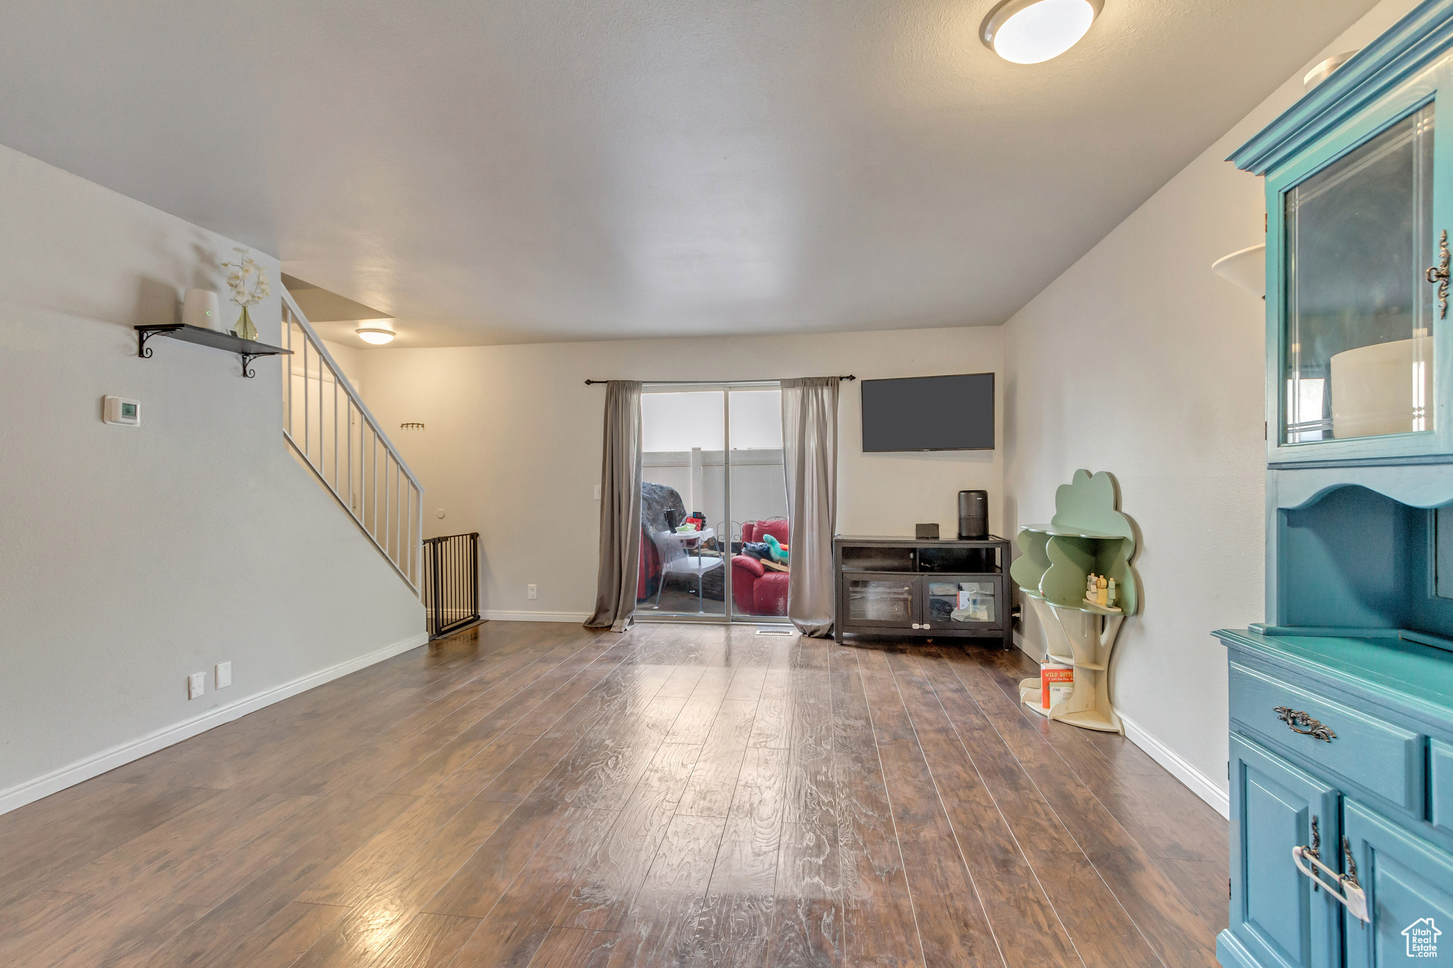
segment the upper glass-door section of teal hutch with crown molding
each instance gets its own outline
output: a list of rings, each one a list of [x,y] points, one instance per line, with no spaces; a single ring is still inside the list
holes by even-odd
[[[1450,51],[1422,3],[1231,157],[1266,176],[1273,466],[1453,454]]]

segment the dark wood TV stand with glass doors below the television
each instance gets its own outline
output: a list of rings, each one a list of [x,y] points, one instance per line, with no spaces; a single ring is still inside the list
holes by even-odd
[[[958,541],[840,534],[833,538],[833,637],[838,643],[843,636],[870,634],[1014,644],[1008,541],[1001,537]]]

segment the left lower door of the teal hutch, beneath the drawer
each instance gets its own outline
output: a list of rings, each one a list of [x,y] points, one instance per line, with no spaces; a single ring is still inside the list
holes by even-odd
[[[1231,938],[1222,964],[1332,968],[1341,908],[1298,871],[1292,848],[1340,843],[1337,789],[1241,737],[1231,737]],[[1228,951],[1229,949],[1229,951]],[[1234,952],[1234,953],[1232,953]]]

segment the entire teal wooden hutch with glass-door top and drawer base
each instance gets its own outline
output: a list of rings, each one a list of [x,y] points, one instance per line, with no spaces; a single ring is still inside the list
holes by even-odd
[[[1216,953],[1437,964],[1453,958],[1453,0],[1420,3],[1232,161],[1266,176],[1267,621],[1216,633],[1232,808]]]

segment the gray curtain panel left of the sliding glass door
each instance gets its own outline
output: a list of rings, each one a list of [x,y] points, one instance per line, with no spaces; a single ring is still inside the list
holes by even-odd
[[[641,560],[641,383],[606,383],[600,457],[600,572],[591,628],[625,631],[635,612]]]

